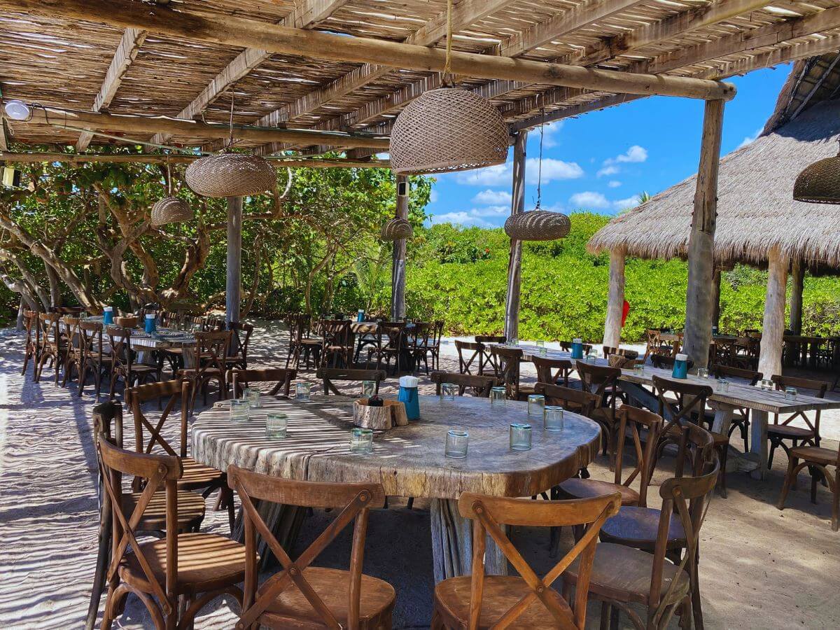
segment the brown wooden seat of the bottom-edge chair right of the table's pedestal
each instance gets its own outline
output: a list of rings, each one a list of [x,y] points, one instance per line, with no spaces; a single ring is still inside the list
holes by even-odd
[[[460,622],[454,627],[467,627],[470,619],[470,580],[470,575],[464,575],[438,582],[438,585],[434,587],[435,608],[443,614],[444,622]],[[478,627],[492,627],[517,601],[530,593],[533,591],[521,577],[486,575]],[[564,607],[563,604],[561,606]],[[517,617],[515,622],[507,627],[516,630],[537,630],[537,628],[548,630],[548,628],[559,626],[543,603],[535,600],[520,617]]]

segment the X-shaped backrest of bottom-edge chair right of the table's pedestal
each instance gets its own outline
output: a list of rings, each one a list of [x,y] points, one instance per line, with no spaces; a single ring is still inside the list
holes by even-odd
[[[621,504],[621,495],[618,493],[570,501],[530,501],[464,492],[458,500],[458,510],[462,517],[473,521],[470,619],[467,627],[470,630],[476,630],[479,627],[481,600],[484,596],[484,554],[486,538],[489,534],[501,549],[501,553],[532,591],[528,593],[527,598],[517,601],[498,620],[492,620],[490,627],[508,627],[528,610],[529,606],[523,605],[523,602],[540,601],[548,612],[547,618],[554,621],[557,627],[575,627],[582,630],[586,623],[586,600],[589,595],[589,580],[598,533],[606,519],[617,514]],[[586,529],[569,553],[565,554],[543,578],[539,578],[522,558],[522,554],[513,546],[510,538],[507,538],[504,531],[505,525],[525,527],[585,525]],[[578,558],[580,558],[578,581],[575,588],[575,605],[572,607],[559,591],[551,588],[551,585]],[[484,622],[487,621],[484,620]]]

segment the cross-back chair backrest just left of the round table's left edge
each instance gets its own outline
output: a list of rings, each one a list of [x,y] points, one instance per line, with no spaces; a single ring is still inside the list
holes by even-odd
[[[166,407],[160,413],[160,418],[158,418],[157,423],[153,426],[143,412],[143,403],[151,400],[160,400],[160,398],[165,396],[170,396],[169,402],[166,403]],[[171,381],[161,381],[160,383],[149,383],[147,385],[131,387],[126,391],[126,401],[131,405],[131,411],[134,414],[134,449],[138,453],[151,454],[155,448],[155,444],[158,444],[161,449],[164,449],[166,454],[186,457],[186,419],[190,402],[189,381],[186,381],[186,379],[172,379]],[[166,423],[166,419],[175,408],[176,402],[179,401],[181,402],[181,430],[179,433],[181,444],[176,449],[161,434],[161,431]],[[149,432],[148,443],[146,443],[144,438],[144,429]]]

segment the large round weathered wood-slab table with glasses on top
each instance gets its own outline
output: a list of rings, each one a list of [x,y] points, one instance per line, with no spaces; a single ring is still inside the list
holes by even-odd
[[[589,465],[600,443],[599,426],[576,413],[565,413],[563,432],[547,433],[542,418],[528,418],[524,402],[491,406],[488,399],[472,396],[454,402],[420,396],[420,420],[376,432],[372,454],[350,454],[353,401],[349,396],[312,396],[312,402],[263,396],[260,407],[251,410],[248,423],[231,423],[228,405],[223,402],[197,417],[192,426],[192,456],[218,470],[234,464],[286,479],[377,481],[386,495],[432,499],[434,575],[439,581],[470,573],[471,528],[458,512],[461,492],[536,495]],[[265,437],[268,412],[288,415],[285,439]],[[511,450],[509,425],[529,421],[533,448]],[[444,456],[449,428],[470,433],[465,459]],[[293,541],[302,518],[300,511],[266,509],[272,511],[272,528],[286,531],[286,541]],[[486,564],[488,573],[507,572],[507,563],[495,545],[487,547]]]

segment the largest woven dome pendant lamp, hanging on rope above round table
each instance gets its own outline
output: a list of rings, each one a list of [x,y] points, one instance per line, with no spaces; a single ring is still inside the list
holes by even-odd
[[[391,130],[391,171],[424,175],[504,164],[507,125],[489,101],[454,87],[452,0],[447,3],[444,87],[423,92],[396,118]]]

